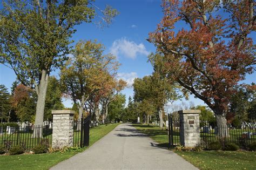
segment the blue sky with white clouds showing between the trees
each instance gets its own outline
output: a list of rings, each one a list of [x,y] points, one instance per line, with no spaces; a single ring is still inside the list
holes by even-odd
[[[145,38],[148,33],[156,29],[157,24],[163,16],[160,8],[160,0],[96,0],[96,5],[104,9],[105,4],[116,8],[120,15],[114,18],[109,28],[101,30],[95,24],[81,24],[76,26],[77,32],[72,39],[75,43],[78,40],[97,39],[98,42],[105,45],[106,53],[112,52],[118,57],[122,64],[118,70],[119,76],[128,81],[131,85],[135,77],[142,78],[152,73],[152,66],[147,63],[147,55],[156,51],[153,44],[147,42]],[[185,25],[178,25],[181,28]],[[252,36],[252,35],[251,35]],[[255,33],[254,35],[255,36]],[[74,44],[75,44],[74,43]],[[11,84],[15,81],[14,71],[6,66],[0,65],[0,84],[4,84],[10,89]],[[57,75],[57,72],[53,72]],[[248,75],[244,83],[252,83],[256,80],[256,73]],[[133,95],[132,88],[123,91],[126,98]],[[184,100],[184,99],[183,99]],[[190,97],[195,105],[204,105],[200,99]],[[189,103],[189,101],[186,101]],[[71,100],[63,100],[66,107],[72,107]],[[176,101],[180,104],[181,101]]]

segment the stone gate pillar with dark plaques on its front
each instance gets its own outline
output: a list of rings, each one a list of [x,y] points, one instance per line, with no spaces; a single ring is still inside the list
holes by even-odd
[[[180,120],[180,144],[194,147],[200,144],[200,110],[178,111]]]

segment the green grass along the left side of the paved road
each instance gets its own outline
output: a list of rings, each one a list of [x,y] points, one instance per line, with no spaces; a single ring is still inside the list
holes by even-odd
[[[117,125],[119,124],[100,125],[91,128],[90,146],[112,131]],[[69,151],[51,154],[0,155],[0,169],[49,169],[58,164],[58,162],[68,159],[77,153],[75,151]]]

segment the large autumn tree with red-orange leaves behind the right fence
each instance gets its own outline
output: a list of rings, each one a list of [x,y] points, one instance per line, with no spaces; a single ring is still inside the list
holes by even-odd
[[[203,100],[226,126],[234,86],[255,70],[254,1],[163,1],[149,41],[167,58],[168,76]],[[186,27],[174,31],[177,24]],[[222,137],[225,132],[219,132]]]

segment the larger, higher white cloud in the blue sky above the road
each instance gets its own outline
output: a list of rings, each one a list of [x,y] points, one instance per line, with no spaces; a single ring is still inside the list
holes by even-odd
[[[126,38],[114,40],[110,48],[110,52],[117,57],[119,55],[124,55],[132,59],[136,58],[138,54],[145,56],[149,55],[149,51],[146,50],[143,43],[136,44]]]

